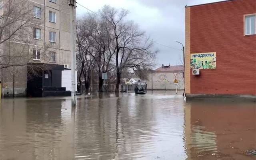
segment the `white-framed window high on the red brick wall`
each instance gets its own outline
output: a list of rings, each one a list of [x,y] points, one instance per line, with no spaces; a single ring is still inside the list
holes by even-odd
[[[256,14],[245,16],[245,35],[256,34]]]

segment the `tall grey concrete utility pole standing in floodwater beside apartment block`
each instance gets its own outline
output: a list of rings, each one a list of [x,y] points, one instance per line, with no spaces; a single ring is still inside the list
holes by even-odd
[[[76,53],[75,53],[75,35],[74,35],[74,11],[76,10],[76,0],[68,0],[68,5],[71,7],[70,12],[70,43],[71,43],[71,102],[72,106],[76,106]]]

